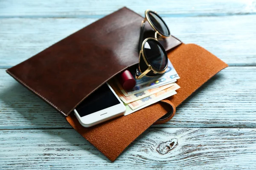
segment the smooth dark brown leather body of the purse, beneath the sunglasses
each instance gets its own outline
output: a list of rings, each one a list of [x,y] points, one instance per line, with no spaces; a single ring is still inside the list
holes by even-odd
[[[7,72],[67,116],[108,79],[138,63],[142,20],[122,8]],[[150,32],[148,23],[146,29]],[[169,50],[181,42],[171,37],[161,43]]]

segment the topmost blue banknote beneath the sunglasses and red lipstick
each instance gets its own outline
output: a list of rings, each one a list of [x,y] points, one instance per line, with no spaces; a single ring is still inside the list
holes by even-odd
[[[135,71],[134,72],[131,71],[131,74],[134,76],[134,79],[136,80],[136,86],[133,89],[126,91],[122,89],[121,85],[118,83],[118,87],[120,88],[120,90],[125,96],[130,96],[130,95],[139,93],[141,91],[145,91],[151,88],[159,87],[161,85],[166,85],[172,82],[176,82],[176,80],[180,78],[169,59],[168,59],[168,69],[166,73],[161,76],[143,77],[142,79],[136,79]]]

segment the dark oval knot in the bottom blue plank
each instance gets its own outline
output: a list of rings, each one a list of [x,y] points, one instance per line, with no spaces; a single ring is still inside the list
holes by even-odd
[[[161,155],[165,155],[166,153],[169,153],[171,150],[173,150],[178,145],[178,139],[173,138],[167,142],[160,143],[156,150]]]

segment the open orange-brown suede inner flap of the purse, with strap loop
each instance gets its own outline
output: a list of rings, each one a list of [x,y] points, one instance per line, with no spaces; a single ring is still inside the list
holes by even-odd
[[[209,51],[195,44],[182,44],[170,51],[168,57],[180,76],[177,80],[180,89],[174,96],[128,116],[121,116],[90,128],[82,127],[74,114],[67,116],[67,121],[108,159],[114,161],[131,142],[169,111],[168,105],[173,107],[172,114],[159,123],[171,119],[177,105],[228,66]]]

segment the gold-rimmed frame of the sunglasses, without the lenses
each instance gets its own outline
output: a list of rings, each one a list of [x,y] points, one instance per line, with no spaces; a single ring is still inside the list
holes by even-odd
[[[143,60],[144,60],[145,64],[148,66],[148,68],[147,68],[144,72],[142,72],[142,71],[140,70],[140,72],[141,72],[142,74],[140,74],[140,76],[137,76],[137,74],[136,74],[136,75],[135,75],[136,79],[141,79],[141,78],[144,77],[144,76],[146,76],[146,77],[154,77],[154,76],[147,76],[147,75],[146,75],[146,74],[148,74],[149,71],[153,71],[154,74],[163,74],[163,73],[166,72],[166,70],[167,70],[167,68],[168,68],[168,63],[167,63],[166,68],[165,68],[163,71],[157,71],[156,69],[152,68],[152,66],[147,62],[147,60],[146,60],[146,58],[145,58],[145,55],[144,55],[144,52],[143,52],[143,47],[144,47],[144,45],[145,45],[145,42],[147,42],[148,40],[156,40],[157,42],[159,42],[158,39],[157,39],[157,34],[160,35],[160,37],[162,37],[162,38],[169,38],[169,37],[171,37],[170,31],[169,31],[169,33],[170,33],[169,36],[164,36],[164,35],[161,34],[159,31],[157,31],[157,29],[154,27],[154,25],[153,25],[153,23],[151,22],[151,20],[149,20],[149,18],[148,18],[148,13],[149,13],[149,12],[153,12],[153,13],[157,14],[157,12],[151,11],[151,10],[147,9],[147,10],[145,11],[145,18],[144,18],[144,20],[141,22],[141,27],[143,26],[143,24],[144,24],[146,21],[148,21],[148,23],[150,24],[150,26],[154,29],[155,34],[154,34],[154,38],[151,38],[151,37],[150,37],[150,38],[146,38],[146,39],[143,41],[142,45],[141,45],[141,50],[140,50],[140,55],[139,55],[139,70],[140,70],[140,58],[141,58],[141,56],[143,57]],[[160,16],[159,16],[159,17],[160,17]],[[168,28],[168,27],[167,27],[167,28]],[[168,30],[169,30],[169,28],[168,28]]]

